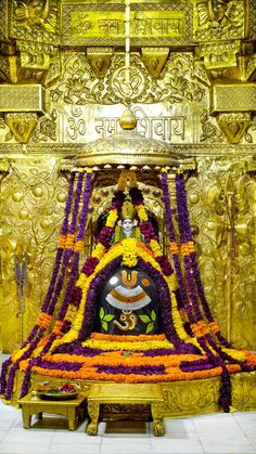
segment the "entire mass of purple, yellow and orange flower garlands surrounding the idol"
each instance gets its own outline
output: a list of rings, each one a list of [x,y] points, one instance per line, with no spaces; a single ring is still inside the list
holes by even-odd
[[[213,317],[196,261],[182,173],[178,172],[176,177],[179,242],[165,169],[161,171],[161,182],[174,269],[149,219],[135,172],[124,170],[105,225],[75,283],[79,254],[84,248],[92,174],[90,169],[72,173],[55,263],[41,311],[26,341],[2,366],[1,393],[4,393],[7,401],[11,400],[18,368],[24,372],[22,397],[28,392],[31,371],[42,376],[66,379],[127,382],[220,376],[219,403],[225,412],[229,411],[230,373],[254,369],[256,356],[232,348],[221,336]],[[112,238],[127,190],[144,243],[138,235],[113,246]],[[62,296],[71,260],[72,270]],[[131,269],[137,267],[154,281],[158,291],[163,334],[124,337],[93,333],[97,289],[119,265]],[[59,315],[51,333],[46,334],[61,296]]]

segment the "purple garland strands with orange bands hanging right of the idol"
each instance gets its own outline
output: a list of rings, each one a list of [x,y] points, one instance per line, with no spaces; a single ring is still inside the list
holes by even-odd
[[[176,176],[176,199],[180,246],[178,246],[176,241],[166,171],[162,171],[161,180],[166,209],[166,223],[170,241],[169,247],[179,282],[182,303],[193,336],[196,337],[199,345],[207,354],[209,362],[216,364],[216,366],[219,366],[222,371],[219,403],[225,412],[229,412],[231,405],[230,372],[248,371],[251,369],[251,366],[246,363],[245,352],[238,352],[238,350],[232,349],[230,343],[221,336],[205,298],[196,262],[195,246],[191,233],[183,174],[178,172]],[[179,260],[179,250],[184,265],[184,276]],[[200,302],[202,303],[203,313],[200,308]],[[206,316],[206,321],[204,316]],[[216,342],[216,339],[218,339],[218,343]],[[187,362],[185,367],[189,368],[190,366],[194,369],[196,363]]]

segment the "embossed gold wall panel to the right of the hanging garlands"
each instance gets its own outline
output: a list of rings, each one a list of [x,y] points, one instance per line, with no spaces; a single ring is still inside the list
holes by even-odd
[[[206,296],[222,334],[253,349],[255,191],[244,160],[197,158],[188,199]]]

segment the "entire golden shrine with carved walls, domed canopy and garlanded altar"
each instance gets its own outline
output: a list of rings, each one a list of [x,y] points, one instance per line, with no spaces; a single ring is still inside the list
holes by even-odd
[[[1,7],[5,400],[149,376],[165,415],[255,408],[254,0]]]

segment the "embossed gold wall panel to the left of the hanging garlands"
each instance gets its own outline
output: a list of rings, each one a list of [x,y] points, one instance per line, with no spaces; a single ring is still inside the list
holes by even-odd
[[[15,349],[34,326],[48,288],[67,181],[54,159],[24,158],[1,182],[1,347]]]

